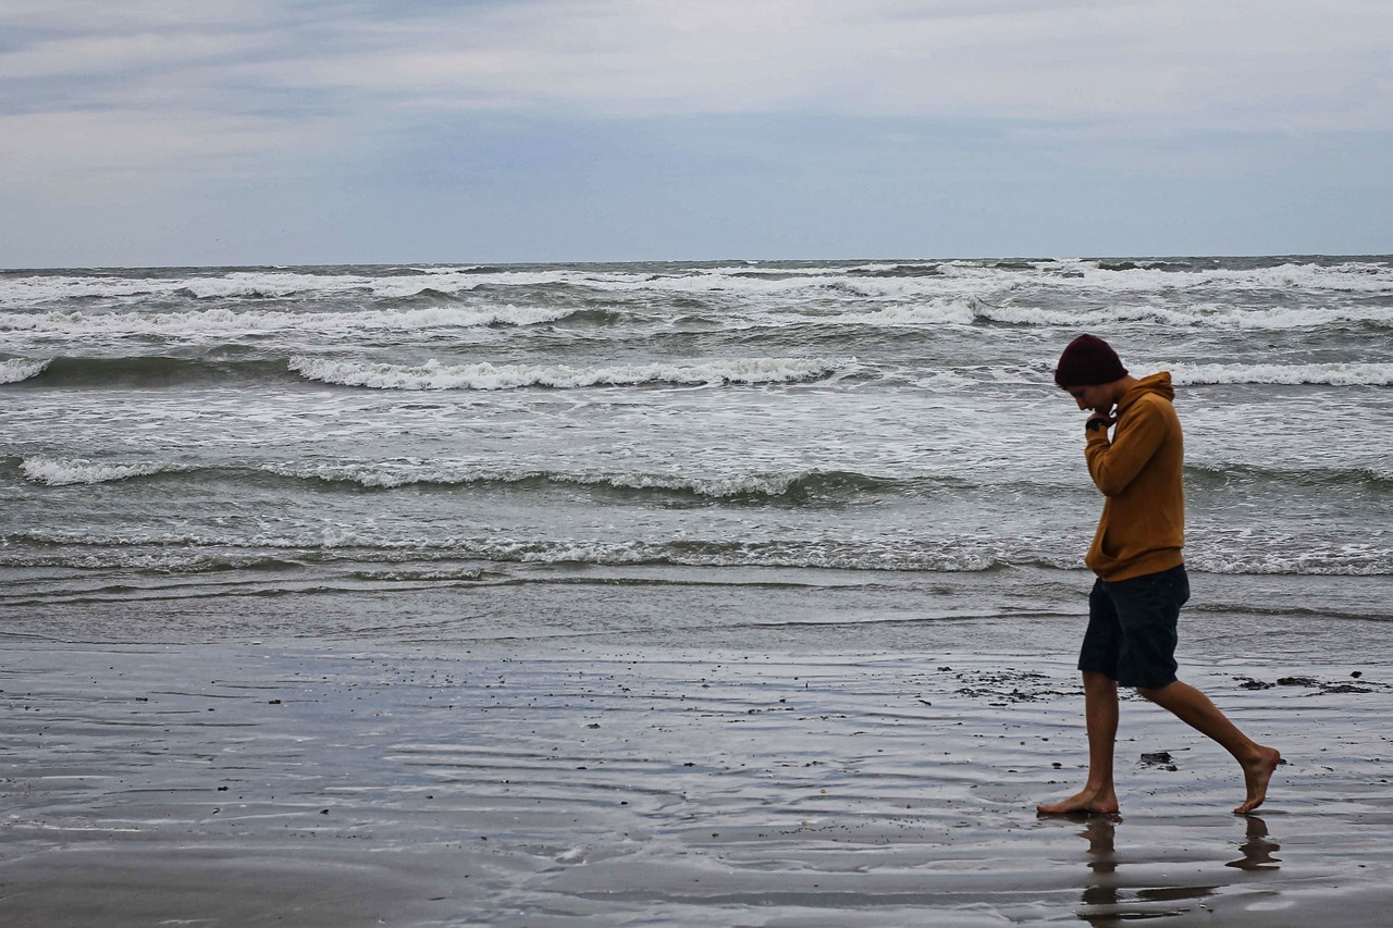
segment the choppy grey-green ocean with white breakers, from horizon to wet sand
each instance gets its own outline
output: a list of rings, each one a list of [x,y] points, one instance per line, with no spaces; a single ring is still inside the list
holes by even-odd
[[[1212,647],[1393,620],[1393,258],[727,261],[0,272],[4,634],[1071,651],[1084,332]]]

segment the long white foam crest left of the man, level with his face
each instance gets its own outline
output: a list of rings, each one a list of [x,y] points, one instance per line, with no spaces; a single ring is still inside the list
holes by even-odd
[[[634,386],[641,383],[797,383],[850,372],[855,358],[731,358],[702,364],[630,364],[578,369],[566,365],[364,364],[295,357],[290,369],[323,383],[379,390],[511,390],[517,387]]]

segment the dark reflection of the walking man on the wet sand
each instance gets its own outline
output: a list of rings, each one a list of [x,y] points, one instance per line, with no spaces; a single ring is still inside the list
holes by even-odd
[[[1216,885],[1181,885],[1158,886],[1152,889],[1135,889],[1127,886],[1124,874],[1119,872],[1119,857],[1116,847],[1117,825],[1123,821],[1120,815],[1085,815],[1080,817],[1084,830],[1080,837],[1088,842],[1085,863],[1092,871],[1088,886],[1084,888],[1082,907],[1078,918],[1095,928],[1119,928],[1124,922],[1139,918],[1165,918],[1169,915],[1183,915],[1191,911],[1184,908],[1167,908],[1163,903],[1177,903],[1185,900],[1199,900],[1213,896]],[[1243,857],[1229,861],[1224,867],[1237,867],[1245,871],[1277,869],[1280,858],[1272,851],[1280,847],[1268,836],[1268,823],[1255,817],[1247,817],[1247,833],[1238,850]],[[1158,904],[1162,903],[1162,904]]]

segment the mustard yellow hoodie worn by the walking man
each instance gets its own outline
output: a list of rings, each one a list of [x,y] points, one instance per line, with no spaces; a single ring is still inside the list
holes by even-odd
[[[1085,562],[1103,580],[1184,563],[1185,449],[1174,396],[1170,373],[1142,378],[1117,403],[1112,440],[1107,429],[1088,433],[1088,472],[1107,499]]]

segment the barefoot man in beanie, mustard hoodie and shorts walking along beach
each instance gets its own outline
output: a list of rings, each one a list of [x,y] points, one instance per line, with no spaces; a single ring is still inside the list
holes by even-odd
[[[1085,559],[1098,574],[1088,598],[1088,630],[1078,655],[1088,723],[1088,782],[1074,796],[1038,807],[1046,815],[1116,812],[1113,747],[1117,684],[1169,709],[1222,744],[1243,768],[1247,798],[1233,810],[1262,805],[1282,762],[1252,741],[1199,690],[1176,679],[1176,624],[1190,598],[1180,549],[1185,497],[1184,442],[1172,405],[1170,373],[1137,379],[1095,336],[1074,339],[1060,355],[1055,383],[1068,390],[1085,424],[1088,472],[1102,490],[1103,517]],[[1107,429],[1113,428],[1109,440]]]

